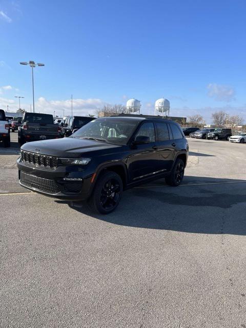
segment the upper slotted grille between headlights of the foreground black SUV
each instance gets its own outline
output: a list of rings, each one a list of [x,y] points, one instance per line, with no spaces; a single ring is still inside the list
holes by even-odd
[[[40,155],[22,150],[22,161],[50,169],[57,168],[57,157]]]

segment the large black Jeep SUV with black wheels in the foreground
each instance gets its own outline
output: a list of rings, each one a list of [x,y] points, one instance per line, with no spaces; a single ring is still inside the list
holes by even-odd
[[[17,160],[25,188],[67,200],[89,200],[103,214],[122,191],[151,179],[178,186],[189,146],[179,125],[166,119],[97,118],[72,136],[28,142]]]

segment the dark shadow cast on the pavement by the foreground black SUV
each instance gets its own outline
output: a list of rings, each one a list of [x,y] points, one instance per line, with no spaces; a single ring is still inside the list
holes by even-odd
[[[166,186],[161,179],[128,190],[118,208],[108,215],[95,214],[86,204],[69,206],[78,213],[119,226],[246,235],[246,180],[189,176],[186,180],[188,183],[178,188]]]

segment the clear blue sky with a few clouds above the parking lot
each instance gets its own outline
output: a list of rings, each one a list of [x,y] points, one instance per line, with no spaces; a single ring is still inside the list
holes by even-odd
[[[141,100],[153,114],[162,96],[171,115],[219,109],[246,120],[246,2],[5,1],[0,2],[0,108],[14,95],[39,111],[92,113],[105,103]],[[3,88],[5,87],[5,88]],[[9,88],[7,88],[9,87]]]

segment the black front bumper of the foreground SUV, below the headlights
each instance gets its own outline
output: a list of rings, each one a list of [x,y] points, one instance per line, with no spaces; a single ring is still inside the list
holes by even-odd
[[[81,167],[59,166],[49,169],[31,165],[18,158],[17,168],[19,184],[37,193],[64,200],[87,200],[91,195],[94,172]],[[67,181],[64,178],[81,180]]]

